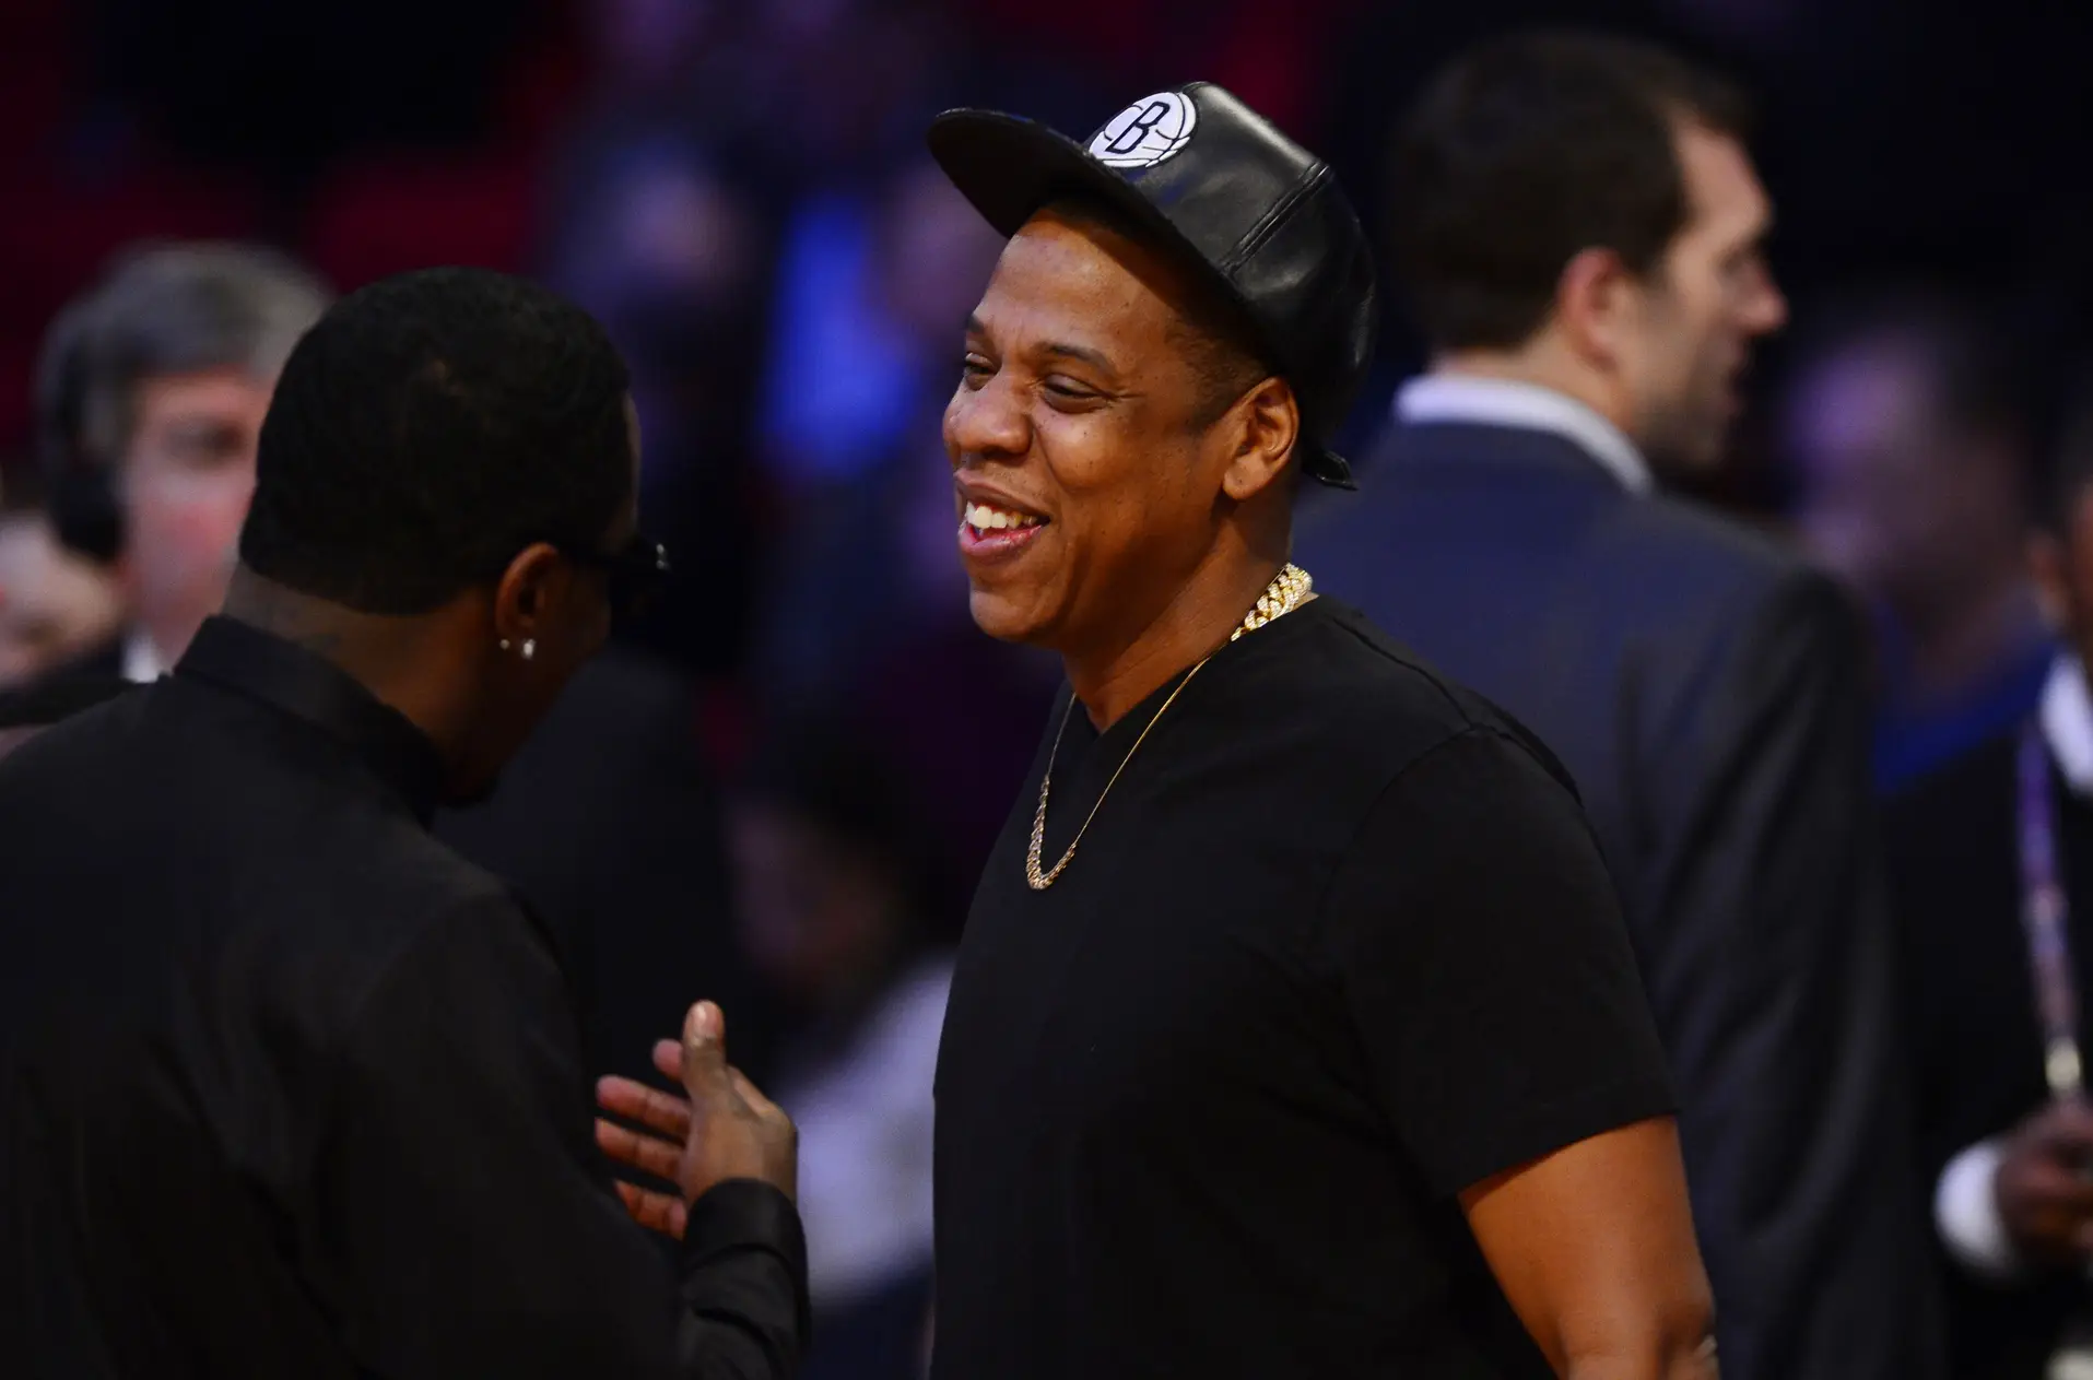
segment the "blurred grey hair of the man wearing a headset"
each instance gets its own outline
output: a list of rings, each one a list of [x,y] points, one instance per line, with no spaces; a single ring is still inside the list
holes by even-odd
[[[320,278],[260,245],[121,253],[44,335],[36,414],[46,468],[115,466],[144,378],[213,368],[274,374],[331,297]]]

